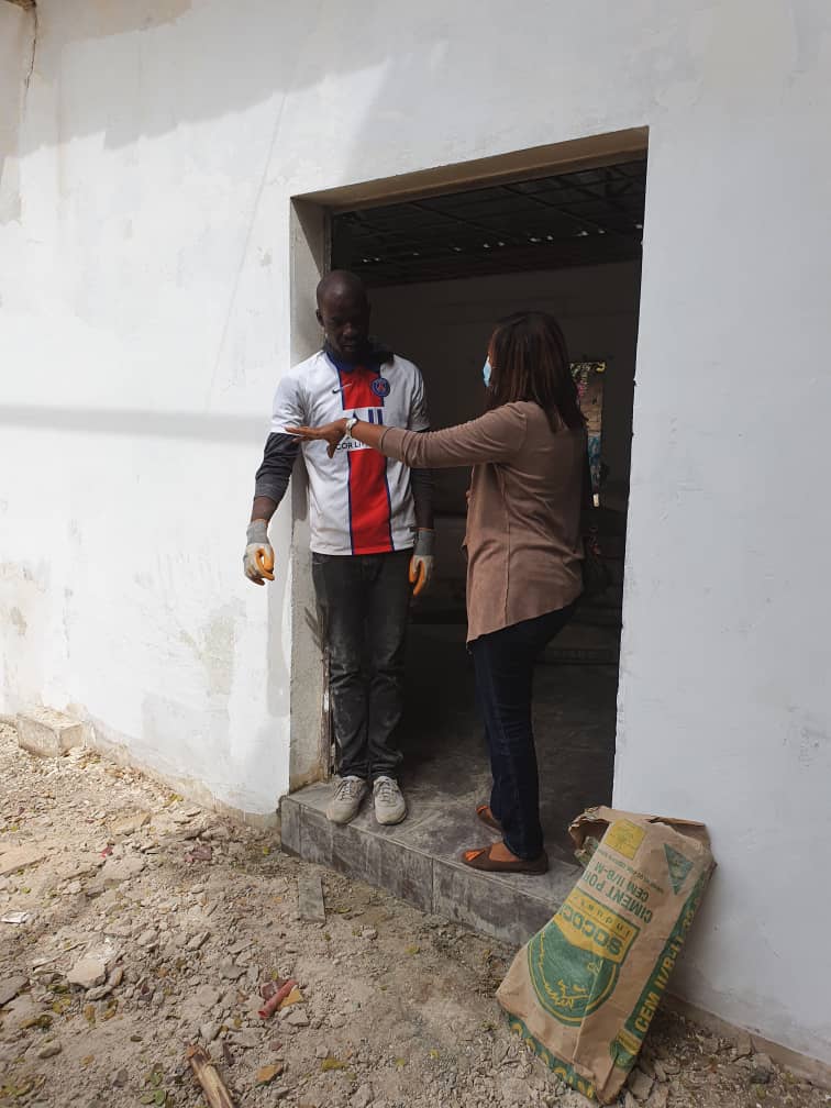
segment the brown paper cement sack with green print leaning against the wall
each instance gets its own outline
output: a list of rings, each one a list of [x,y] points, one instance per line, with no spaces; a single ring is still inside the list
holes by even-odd
[[[568,831],[584,872],[496,998],[554,1073],[607,1104],[635,1064],[714,861],[700,823],[591,808]]]

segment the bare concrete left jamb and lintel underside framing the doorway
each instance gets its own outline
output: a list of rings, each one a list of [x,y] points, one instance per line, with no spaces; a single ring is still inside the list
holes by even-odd
[[[330,218],[337,212],[527,181],[644,156],[648,129],[633,127],[570,142],[433,166],[396,177],[320,189],[291,198],[289,280],[291,362],[319,348],[315,287],[329,269]],[[291,684],[289,791],[328,777],[331,729],[324,652],[311,582],[305,482],[294,481],[291,529]]]

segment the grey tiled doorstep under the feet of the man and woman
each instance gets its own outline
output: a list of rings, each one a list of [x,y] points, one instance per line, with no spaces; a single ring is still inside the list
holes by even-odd
[[[325,814],[330,796],[331,784],[322,783],[283,799],[285,851],[514,946],[551,919],[579,872],[555,858],[543,876],[478,873],[462,865],[458,855],[464,847],[493,838],[472,814],[472,799],[462,806],[456,797],[408,792],[410,813],[394,828],[376,822],[368,800],[352,823],[336,827]]]

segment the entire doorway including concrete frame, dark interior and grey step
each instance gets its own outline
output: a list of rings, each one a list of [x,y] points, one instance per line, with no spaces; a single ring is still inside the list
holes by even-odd
[[[483,841],[474,806],[490,786],[464,649],[466,472],[435,474],[437,578],[412,608],[401,736],[409,814],[391,828],[378,825],[369,804],[347,827],[326,819],[330,720],[305,500],[295,490],[284,849],[517,944],[574,883],[570,820],[612,796],[647,138],[646,129],[594,135],[293,199],[294,361],[317,349],[315,286],[330,267],[369,286],[372,330],[420,366],[434,428],[480,414],[486,343],[502,316],[552,311],[568,341],[594,435],[599,537],[613,584],[582,606],[536,668],[552,861],[544,878],[476,873],[459,862],[463,847]]]

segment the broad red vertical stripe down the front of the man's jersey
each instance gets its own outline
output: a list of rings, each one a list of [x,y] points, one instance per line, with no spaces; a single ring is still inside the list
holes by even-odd
[[[356,366],[339,370],[343,410],[382,408],[383,399],[372,391],[377,370]],[[349,530],[352,554],[387,554],[394,550],[390,520],[387,459],[377,450],[349,451]]]

